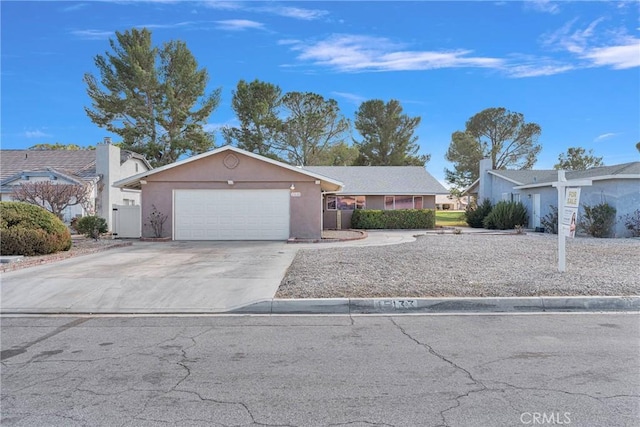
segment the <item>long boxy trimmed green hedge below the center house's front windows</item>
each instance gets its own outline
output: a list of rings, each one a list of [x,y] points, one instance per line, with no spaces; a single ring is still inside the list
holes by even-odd
[[[356,229],[424,229],[435,226],[436,213],[432,209],[365,209],[354,211],[351,217],[351,228]]]

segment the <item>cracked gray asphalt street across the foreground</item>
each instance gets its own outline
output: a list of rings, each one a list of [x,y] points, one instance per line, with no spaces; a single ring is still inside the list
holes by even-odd
[[[630,426],[638,314],[2,317],[3,426]]]

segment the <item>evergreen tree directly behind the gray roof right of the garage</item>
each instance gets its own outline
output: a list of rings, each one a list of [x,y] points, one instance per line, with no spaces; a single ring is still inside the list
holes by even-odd
[[[356,112],[355,128],[362,135],[354,140],[360,154],[357,165],[424,166],[429,155],[418,155],[420,146],[414,132],[420,117],[402,113],[395,99],[385,103],[379,99],[365,101]]]

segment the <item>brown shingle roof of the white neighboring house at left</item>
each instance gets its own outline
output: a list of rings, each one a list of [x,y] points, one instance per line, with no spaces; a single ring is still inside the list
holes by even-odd
[[[151,165],[141,154],[120,150],[120,164],[131,158]],[[54,171],[72,178],[91,180],[96,175],[96,150],[1,150],[0,181],[21,172]]]

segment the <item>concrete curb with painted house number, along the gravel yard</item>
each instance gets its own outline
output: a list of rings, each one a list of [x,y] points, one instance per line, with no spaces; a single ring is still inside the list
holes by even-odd
[[[640,296],[270,299],[230,314],[640,312]]]

